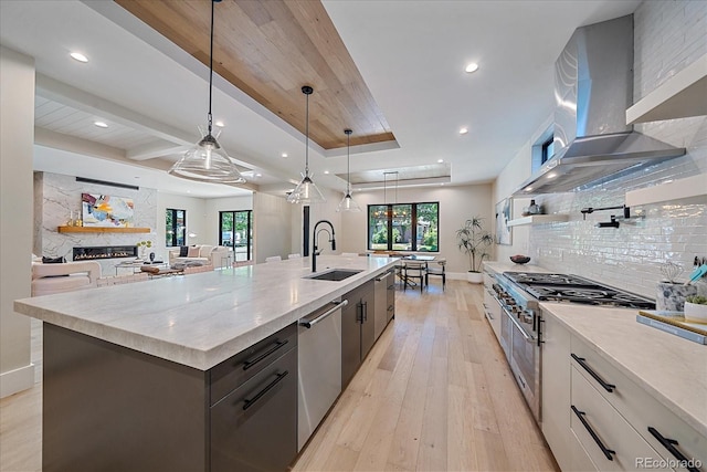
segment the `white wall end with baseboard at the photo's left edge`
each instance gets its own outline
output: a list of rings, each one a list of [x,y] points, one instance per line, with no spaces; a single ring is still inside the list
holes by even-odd
[[[30,388],[30,318],[13,301],[30,296],[34,143],[34,60],[0,46],[0,397]]]

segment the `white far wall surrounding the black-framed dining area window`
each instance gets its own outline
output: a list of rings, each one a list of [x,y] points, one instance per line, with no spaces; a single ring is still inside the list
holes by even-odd
[[[363,211],[360,213],[341,213],[341,238],[338,249],[344,252],[366,252],[368,245],[368,210],[369,204],[384,204],[382,190],[355,192],[354,200]],[[390,192],[388,203],[392,203]],[[495,218],[492,212],[492,186],[444,186],[444,187],[418,187],[398,189],[399,203],[407,202],[440,202],[440,252],[439,258],[446,258],[447,271],[452,273],[465,273],[468,271],[468,261],[456,245],[456,230],[465,220],[478,214],[485,220],[485,229],[494,231]],[[337,202],[338,203],[338,202]],[[492,248],[493,250],[493,248]]]

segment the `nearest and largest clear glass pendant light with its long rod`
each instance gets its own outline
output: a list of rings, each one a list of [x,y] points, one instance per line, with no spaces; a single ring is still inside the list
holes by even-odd
[[[202,138],[184,156],[169,169],[169,174],[190,180],[217,183],[243,183],[245,179],[235,164],[221,148],[217,137],[220,130],[212,134],[211,97],[213,93],[213,7],[221,0],[211,1],[211,51],[209,54],[209,125],[205,133],[199,130]],[[215,135],[215,136],[214,136]]]

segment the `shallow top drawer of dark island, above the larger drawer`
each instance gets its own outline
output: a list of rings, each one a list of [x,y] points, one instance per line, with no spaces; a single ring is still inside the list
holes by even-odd
[[[296,323],[213,367],[210,370],[210,405],[218,402],[294,347],[297,347]]]

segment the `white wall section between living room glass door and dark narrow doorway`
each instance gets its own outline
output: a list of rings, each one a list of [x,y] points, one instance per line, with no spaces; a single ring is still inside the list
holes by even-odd
[[[255,263],[265,262],[265,258],[271,255],[286,259],[287,254],[293,252],[293,207],[285,198],[262,192],[253,193]]]

